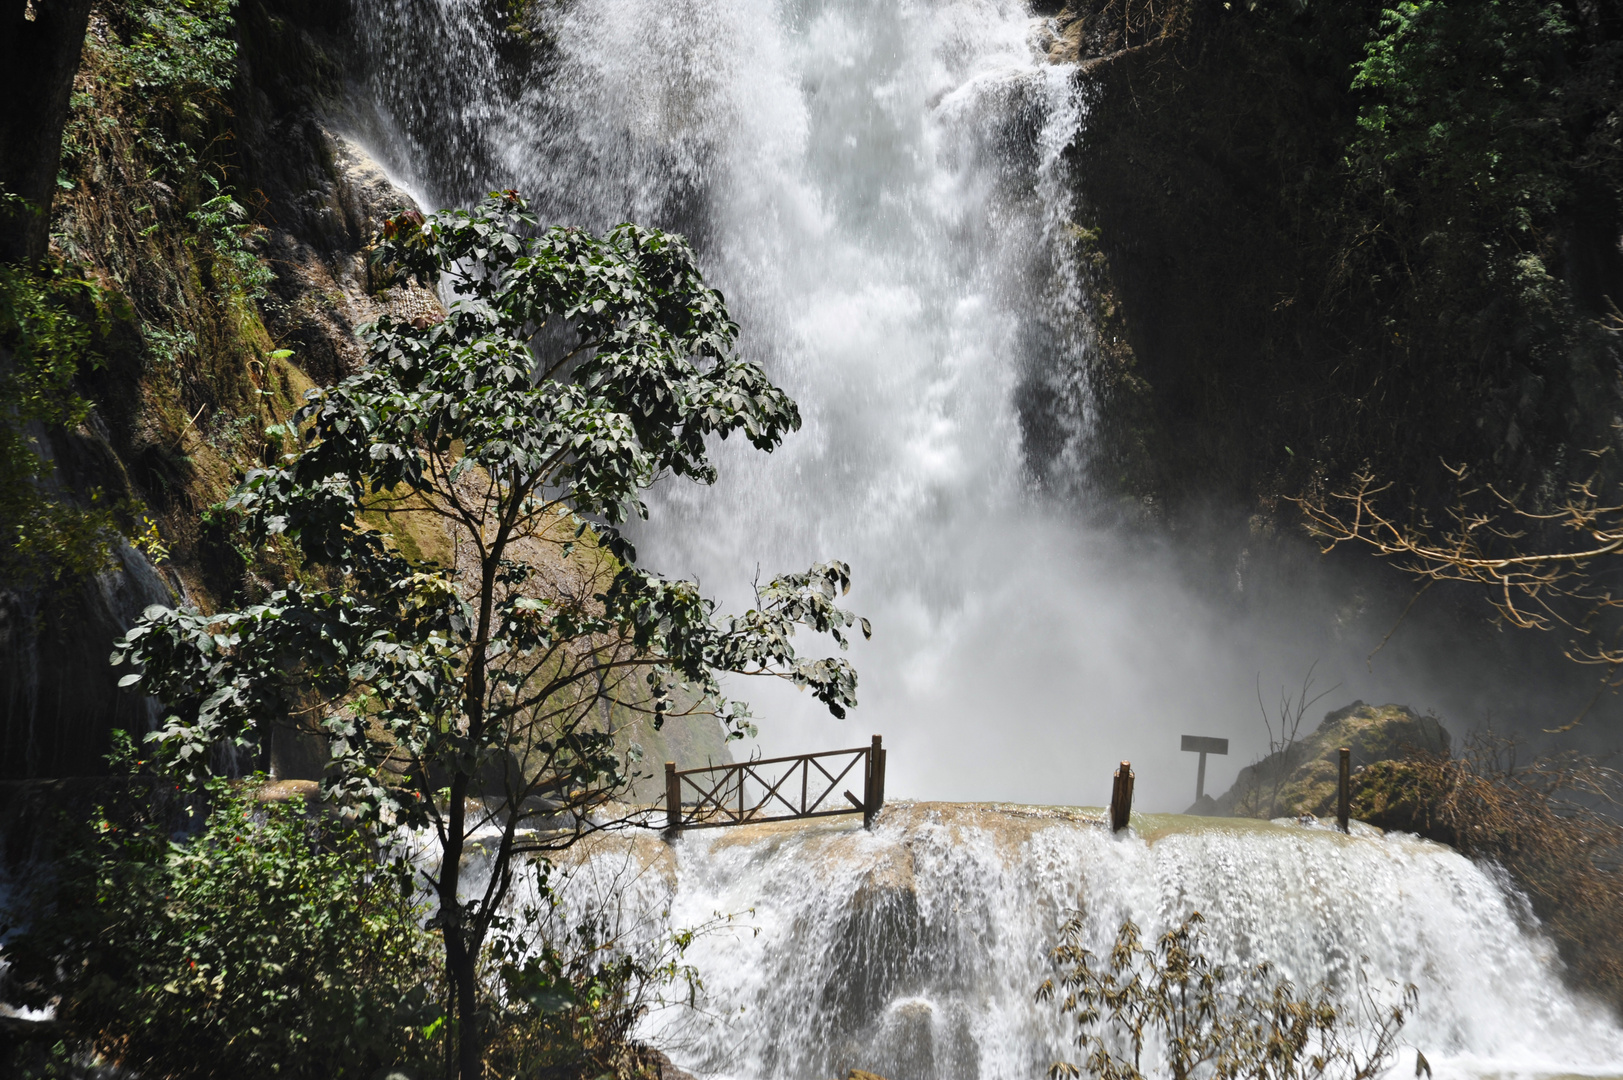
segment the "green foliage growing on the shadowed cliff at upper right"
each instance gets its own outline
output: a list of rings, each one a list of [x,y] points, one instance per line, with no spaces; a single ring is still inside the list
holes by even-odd
[[[1581,270],[1569,250],[1561,266],[1574,226],[1561,218],[1595,164],[1579,146],[1587,117],[1569,76],[1581,39],[1568,6],[1397,3],[1352,81],[1368,104],[1349,162],[1380,192],[1388,255],[1410,263],[1409,302],[1496,296],[1503,312],[1492,322],[1514,328],[1535,364],[1560,362],[1578,344],[1571,284]]]

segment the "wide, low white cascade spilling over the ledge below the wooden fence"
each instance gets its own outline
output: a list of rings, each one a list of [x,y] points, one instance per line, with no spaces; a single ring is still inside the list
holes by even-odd
[[[1389,1075],[1618,1075],[1623,1030],[1561,983],[1519,896],[1449,848],[1354,825],[901,802],[855,820],[609,840],[571,875],[613,880],[644,922],[708,924],[687,953],[698,1010],[644,1036],[696,1074],[815,1080],[1042,1077],[1076,1061],[1074,1025],[1037,1002],[1061,922],[1081,911],[1109,955],[1191,911],[1224,963],[1268,958],[1300,989],[1352,1002],[1404,984],[1417,1007]],[[626,882],[631,882],[626,887]],[[717,919],[717,916],[732,916]]]

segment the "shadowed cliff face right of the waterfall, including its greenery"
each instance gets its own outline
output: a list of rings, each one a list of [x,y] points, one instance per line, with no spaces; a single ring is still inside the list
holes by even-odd
[[[1055,16],[1112,484],[1243,520],[1360,466],[1435,503],[1440,458],[1560,490],[1615,456],[1620,6],[1389,6]]]

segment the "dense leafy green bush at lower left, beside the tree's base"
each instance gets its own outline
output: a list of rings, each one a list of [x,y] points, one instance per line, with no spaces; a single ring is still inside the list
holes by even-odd
[[[162,784],[117,783],[31,880],[13,1004],[57,1000],[68,1044],[144,1077],[367,1077],[433,1049],[433,939],[404,859],[256,783],[211,781],[190,836]]]

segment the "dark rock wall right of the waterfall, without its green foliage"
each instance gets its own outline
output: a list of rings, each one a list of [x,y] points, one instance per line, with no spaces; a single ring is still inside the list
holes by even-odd
[[[1552,490],[1618,442],[1623,349],[1600,330],[1618,201],[1582,179],[1604,167],[1574,166],[1535,222],[1571,304],[1540,323],[1474,276],[1470,245],[1509,240],[1466,221],[1469,192],[1383,195],[1349,161],[1386,6],[1084,0],[1055,19],[1089,99],[1074,164],[1100,322],[1130,346],[1097,380],[1102,474],[1130,494],[1243,521],[1368,464],[1435,503],[1440,460]],[[1579,31],[1555,67],[1615,80],[1617,5],[1560,6]],[[1571,119],[1573,140],[1605,122]]]

